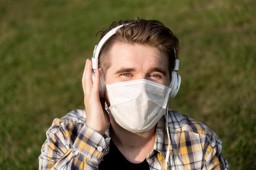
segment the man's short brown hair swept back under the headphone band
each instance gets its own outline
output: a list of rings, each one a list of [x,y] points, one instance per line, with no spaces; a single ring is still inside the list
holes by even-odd
[[[171,79],[171,71],[175,67],[175,59],[178,57],[179,50],[179,40],[173,34],[173,32],[168,29],[164,24],[158,20],[119,20],[118,22],[113,22],[108,29],[105,31],[100,31],[101,38],[103,38],[108,31],[112,30],[116,26],[122,24],[128,24],[122,26],[112,35],[103,45],[101,52],[99,53],[99,68],[102,69],[103,74],[106,72],[111,64],[110,50],[116,42],[124,42],[129,44],[144,44],[151,47],[156,47],[162,50],[168,56],[168,69]],[[97,34],[98,34],[97,33]]]

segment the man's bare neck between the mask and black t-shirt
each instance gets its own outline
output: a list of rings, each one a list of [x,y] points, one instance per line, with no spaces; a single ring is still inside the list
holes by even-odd
[[[110,118],[110,137],[124,157],[132,163],[141,163],[155,144],[155,127],[133,133],[119,126]]]

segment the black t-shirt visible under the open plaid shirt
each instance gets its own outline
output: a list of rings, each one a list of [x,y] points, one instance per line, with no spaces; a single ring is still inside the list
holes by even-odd
[[[110,150],[99,164],[99,170],[149,170],[146,159],[141,163],[130,163],[110,140]]]

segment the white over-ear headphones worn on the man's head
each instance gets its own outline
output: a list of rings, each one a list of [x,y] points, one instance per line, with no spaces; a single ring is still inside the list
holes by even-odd
[[[114,29],[110,30],[108,33],[106,33],[106,35],[100,40],[99,44],[95,45],[94,47],[94,52],[93,52],[93,57],[92,57],[92,81],[94,81],[94,74],[95,74],[95,69],[99,68],[99,53],[101,51],[102,46],[105,44],[105,42],[116,33],[116,31],[121,28],[122,26],[126,26],[132,23],[128,23],[128,24],[123,24],[123,25],[119,25],[117,27],[115,27]],[[176,55],[176,50],[175,51],[175,55]],[[170,98],[174,98],[180,88],[180,82],[181,82],[181,77],[180,75],[178,75],[178,70],[179,70],[179,63],[180,60],[176,59],[175,60],[175,68],[174,71],[172,71],[172,80],[171,80],[171,84],[169,86],[169,88],[171,88],[171,93],[170,93]],[[104,82],[104,77],[103,77],[103,73],[101,68],[99,68],[100,72],[101,72],[101,76],[100,76],[100,92],[99,95],[101,98],[104,97],[105,95],[105,82]]]

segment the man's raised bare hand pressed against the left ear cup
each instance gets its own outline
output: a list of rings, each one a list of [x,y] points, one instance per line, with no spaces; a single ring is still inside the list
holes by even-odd
[[[92,61],[87,59],[82,78],[86,125],[103,136],[108,128],[109,117],[105,110],[105,99],[99,97],[99,82],[99,69],[96,69],[92,82]]]

